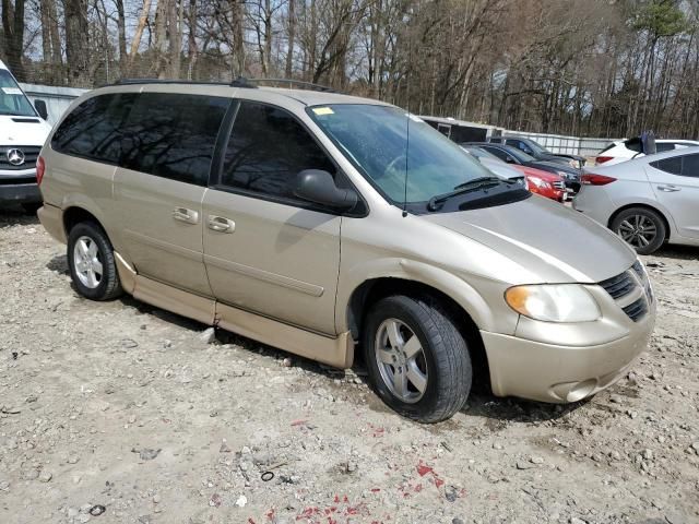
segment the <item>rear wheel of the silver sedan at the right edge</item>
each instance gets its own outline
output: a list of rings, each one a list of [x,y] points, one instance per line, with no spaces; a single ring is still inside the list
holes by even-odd
[[[665,221],[648,207],[629,207],[612,221],[612,230],[639,254],[651,254],[665,241]]]

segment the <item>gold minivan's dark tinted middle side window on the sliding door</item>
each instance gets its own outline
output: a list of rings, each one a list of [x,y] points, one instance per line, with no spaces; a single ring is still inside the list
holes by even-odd
[[[229,98],[142,93],[123,131],[121,166],[206,186]]]

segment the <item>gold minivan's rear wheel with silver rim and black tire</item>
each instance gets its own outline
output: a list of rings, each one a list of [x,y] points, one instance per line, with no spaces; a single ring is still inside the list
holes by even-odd
[[[91,300],[122,294],[114,249],[97,224],[81,222],[68,235],[68,267],[78,291]]]

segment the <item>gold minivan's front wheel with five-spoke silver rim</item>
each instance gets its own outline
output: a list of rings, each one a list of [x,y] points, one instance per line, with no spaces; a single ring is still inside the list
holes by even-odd
[[[469,348],[431,298],[394,295],[376,302],[363,345],[375,391],[399,414],[438,422],[465,404],[473,374]]]

